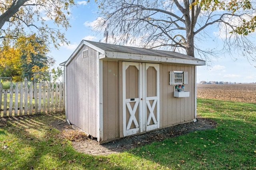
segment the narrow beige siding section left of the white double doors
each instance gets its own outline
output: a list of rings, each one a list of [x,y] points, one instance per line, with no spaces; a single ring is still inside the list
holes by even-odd
[[[103,61],[103,141],[120,137],[119,63]],[[122,79],[121,79],[122,80]]]

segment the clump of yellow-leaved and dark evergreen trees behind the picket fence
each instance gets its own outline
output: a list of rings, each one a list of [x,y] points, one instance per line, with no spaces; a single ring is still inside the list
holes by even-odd
[[[35,34],[28,37],[20,35],[12,47],[9,42],[6,44],[0,51],[0,76],[12,77],[14,81],[21,81],[25,77],[33,80],[34,73],[49,72],[55,62],[47,56],[49,49],[46,43]]]

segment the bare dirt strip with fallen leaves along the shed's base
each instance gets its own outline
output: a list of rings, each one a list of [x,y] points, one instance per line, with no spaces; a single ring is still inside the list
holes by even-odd
[[[184,135],[192,131],[213,129],[217,126],[217,123],[212,119],[198,117],[196,122],[166,127],[160,130],[151,131],[132,137],[125,137],[99,145],[96,139],[87,137],[82,131],[75,131],[70,125],[68,125],[66,121],[52,121],[50,124],[61,132],[60,137],[72,141],[74,149],[76,149],[78,152],[92,155],[108,155],[123,152],[125,150],[147,145],[155,141],[163,141],[164,139]]]

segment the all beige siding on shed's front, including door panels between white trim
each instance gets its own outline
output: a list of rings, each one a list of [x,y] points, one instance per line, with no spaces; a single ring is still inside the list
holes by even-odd
[[[160,128],[194,119],[194,69],[194,66],[160,64]],[[134,66],[126,69],[126,87],[138,86],[136,70]],[[169,85],[170,71],[188,72],[185,91],[190,92],[190,97],[173,97],[174,85]],[[148,68],[147,76],[147,96],[154,96],[156,95],[156,70],[153,67]],[[126,98],[137,97],[137,88],[126,88]],[[132,103],[131,106],[133,107]],[[103,141],[123,137],[122,108],[122,61],[103,61]],[[129,113],[128,110],[126,112]],[[128,118],[126,118],[127,121]],[[136,112],[136,119],[138,120],[138,112]]]

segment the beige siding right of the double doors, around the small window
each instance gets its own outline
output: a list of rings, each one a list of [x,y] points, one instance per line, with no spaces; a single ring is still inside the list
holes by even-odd
[[[160,127],[168,127],[186,121],[192,121],[194,117],[195,102],[195,66],[179,66],[160,64]],[[187,98],[174,98],[174,86],[169,85],[170,71],[187,71],[188,84],[185,91],[190,92]]]

